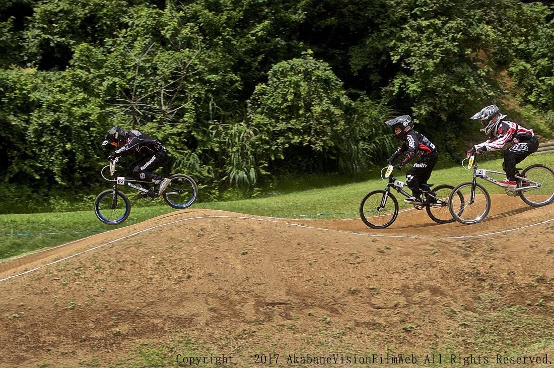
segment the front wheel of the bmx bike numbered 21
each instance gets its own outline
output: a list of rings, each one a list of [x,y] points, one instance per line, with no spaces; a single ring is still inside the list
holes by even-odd
[[[471,182],[461,183],[455,187],[448,198],[450,214],[463,224],[478,223],[485,219],[490,211],[490,196],[485,187],[475,183],[475,193],[472,198],[474,185]]]

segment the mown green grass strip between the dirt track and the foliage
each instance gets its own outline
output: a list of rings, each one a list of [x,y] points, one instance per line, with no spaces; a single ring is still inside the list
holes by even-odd
[[[486,156],[484,156],[486,157]],[[522,162],[520,167],[534,163],[544,163],[554,167],[554,154],[532,155]],[[480,168],[502,171],[502,160],[482,161]],[[406,170],[397,172],[399,180],[405,180]],[[458,185],[470,181],[471,172],[461,168],[443,168],[433,171],[431,183],[439,185],[449,183]],[[480,181],[490,193],[504,193],[502,188],[483,180]],[[371,180],[316,188],[307,191],[294,192],[249,200],[195,203],[192,208],[220,209],[257,216],[276,216],[290,218],[357,218],[361,198],[369,191],[382,189],[385,183],[379,177]],[[400,195],[397,195],[399,198]],[[159,203],[163,203],[161,200]],[[401,206],[404,203],[400,201]],[[119,226],[108,226],[96,219],[90,211],[30,213],[30,214],[0,214],[0,258],[14,257],[45,247],[57,246],[75,239],[84,238],[97,232],[107,231],[140,223],[146,219],[175,211],[164,204],[150,207],[139,207],[137,201],[131,199],[131,214]],[[405,205],[408,207],[408,205]],[[43,234],[48,235],[22,235]],[[60,234],[52,234],[60,233]]]

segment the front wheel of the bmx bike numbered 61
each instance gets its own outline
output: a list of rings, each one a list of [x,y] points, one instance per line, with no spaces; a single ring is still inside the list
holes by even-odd
[[[360,218],[373,229],[384,229],[396,220],[398,201],[384,190],[372,191],[363,197],[360,203]]]

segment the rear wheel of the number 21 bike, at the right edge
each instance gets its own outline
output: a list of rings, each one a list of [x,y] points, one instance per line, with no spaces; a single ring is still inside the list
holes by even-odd
[[[517,187],[525,184],[530,186],[540,185],[539,188],[531,188],[519,191],[521,199],[527,205],[541,207],[554,201],[554,171],[548,166],[531,165],[521,172],[529,181],[517,179]]]

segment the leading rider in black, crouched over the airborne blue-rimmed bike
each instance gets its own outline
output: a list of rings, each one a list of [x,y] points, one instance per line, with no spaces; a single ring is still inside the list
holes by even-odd
[[[125,157],[134,153],[142,156],[129,165],[129,171],[139,180],[149,180],[159,185],[158,197],[170,183],[170,179],[165,178],[152,171],[162,167],[167,162],[167,150],[160,142],[151,136],[138,130],[125,130],[119,126],[114,126],[106,135],[102,146],[112,145],[117,147],[115,152],[107,157],[112,162],[118,157]],[[135,198],[144,198],[146,193],[138,193]]]

